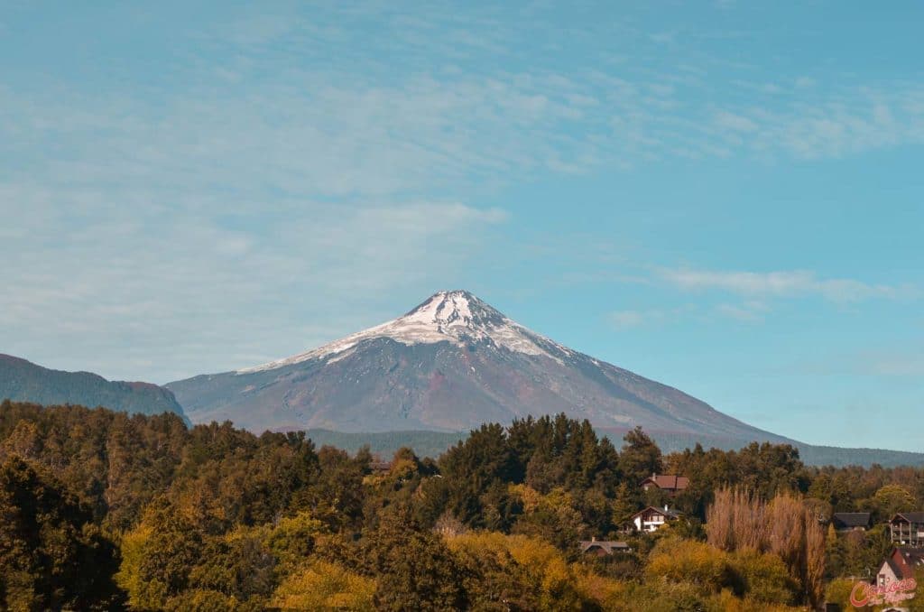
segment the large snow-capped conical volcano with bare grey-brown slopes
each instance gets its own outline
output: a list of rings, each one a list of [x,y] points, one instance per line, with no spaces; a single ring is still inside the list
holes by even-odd
[[[602,431],[786,441],[697,398],[568,349],[467,291],[283,360],[167,385],[193,422],[255,432],[457,432],[564,411]]]

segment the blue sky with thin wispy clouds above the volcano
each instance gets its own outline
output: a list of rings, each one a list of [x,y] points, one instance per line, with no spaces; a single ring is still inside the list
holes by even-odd
[[[165,383],[468,288],[922,451],[924,7],[799,4],[6,2],[0,351]]]

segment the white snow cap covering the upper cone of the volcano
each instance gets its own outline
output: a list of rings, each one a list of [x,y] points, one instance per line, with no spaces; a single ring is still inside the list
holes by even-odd
[[[417,308],[387,323],[286,359],[237,370],[253,373],[274,370],[302,361],[343,359],[363,340],[389,337],[405,345],[450,342],[456,346],[487,344],[528,355],[545,355],[561,361],[573,354],[547,337],[508,319],[503,313],[464,290],[438,291]]]

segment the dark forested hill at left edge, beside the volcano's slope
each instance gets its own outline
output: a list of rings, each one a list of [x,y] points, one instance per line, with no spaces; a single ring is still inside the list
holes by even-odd
[[[0,399],[44,406],[103,406],[139,414],[176,412],[188,423],[173,393],[151,383],[107,381],[90,372],[49,370],[31,361],[0,354]]]

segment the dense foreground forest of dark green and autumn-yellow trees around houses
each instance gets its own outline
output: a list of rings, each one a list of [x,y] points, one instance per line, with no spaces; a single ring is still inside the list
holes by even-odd
[[[175,414],[4,402],[0,608],[784,609],[888,548],[881,528],[819,520],[924,507],[922,470],[809,469],[766,444],[663,456],[640,430],[617,449],[564,415],[388,459]],[[652,473],[691,486],[642,491]],[[621,531],[664,504],[683,519]],[[706,521],[748,513],[762,523]],[[591,537],[633,550],[582,557]]]

